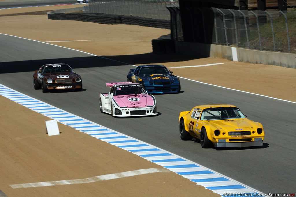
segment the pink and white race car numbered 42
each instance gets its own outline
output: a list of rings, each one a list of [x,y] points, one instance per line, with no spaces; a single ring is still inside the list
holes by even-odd
[[[112,116],[157,115],[156,100],[138,83],[106,83],[109,93],[100,94],[100,111]]]

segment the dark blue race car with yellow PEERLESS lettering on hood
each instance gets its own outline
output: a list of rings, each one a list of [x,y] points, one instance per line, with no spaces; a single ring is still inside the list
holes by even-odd
[[[142,84],[148,93],[178,93],[180,80],[172,73],[163,65],[141,65],[130,69],[126,77],[128,82]]]

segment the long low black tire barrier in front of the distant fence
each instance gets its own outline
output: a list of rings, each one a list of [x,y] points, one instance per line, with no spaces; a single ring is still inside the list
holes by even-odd
[[[48,13],[47,16],[48,19],[52,20],[78,20],[111,25],[122,23],[125,25],[140,25],[145,27],[170,29],[170,21],[162,19],[149,19],[103,13]]]

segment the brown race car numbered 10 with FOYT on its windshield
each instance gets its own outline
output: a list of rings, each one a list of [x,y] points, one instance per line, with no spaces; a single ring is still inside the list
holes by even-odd
[[[46,64],[33,74],[34,89],[48,92],[51,89],[82,89],[81,76],[68,64]]]

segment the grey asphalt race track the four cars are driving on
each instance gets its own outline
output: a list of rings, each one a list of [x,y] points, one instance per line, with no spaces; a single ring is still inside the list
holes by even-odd
[[[112,118],[100,113],[99,93],[108,92],[106,82],[125,82],[134,66],[9,35],[0,34],[0,43],[0,84],[180,155],[260,192],[295,193],[295,103],[181,79],[181,93],[155,95],[159,115]],[[80,74],[83,91],[34,90],[34,71],[54,63],[69,64]],[[182,141],[178,133],[179,113],[203,104],[239,107],[249,119],[263,124],[264,146],[202,149],[198,142]]]

